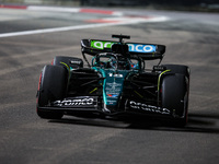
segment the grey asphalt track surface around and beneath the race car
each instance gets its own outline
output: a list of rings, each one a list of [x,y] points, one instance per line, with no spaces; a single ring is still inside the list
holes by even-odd
[[[5,33],[88,25],[88,20],[113,15],[0,9],[1,164],[218,163],[219,15],[123,12],[169,20],[1,37]],[[164,44],[168,49],[163,63],[191,67],[189,119],[185,128],[147,120],[37,117],[35,95],[44,65],[55,56],[80,57],[80,39],[108,39],[111,34],[129,34],[132,42]]]

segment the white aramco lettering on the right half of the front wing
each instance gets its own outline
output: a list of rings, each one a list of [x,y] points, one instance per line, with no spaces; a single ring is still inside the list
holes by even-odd
[[[171,114],[170,109],[168,109],[168,108],[147,105],[147,104],[143,104],[143,103],[136,103],[134,101],[130,101],[129,105],[130,105],[131,108],[141,109],[141,110],[146,110],[146,112],[150,112],[150,113],[157,113],[157,114],[162,114],[162,115],[170,115]]]

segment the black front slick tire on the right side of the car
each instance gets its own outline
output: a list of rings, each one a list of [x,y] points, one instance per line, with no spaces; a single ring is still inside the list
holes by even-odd
[[[188,89],[184,74],[171,74],[162,81],[162,107],[173,110],[174,125],[187,124]]]

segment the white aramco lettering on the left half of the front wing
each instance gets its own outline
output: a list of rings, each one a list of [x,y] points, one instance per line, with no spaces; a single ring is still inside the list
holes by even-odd
[[[82,106],[82,105],[93,105],[94,98],[78,98],[78,99],[64,99],[56,101],[53,103],[55,106]]]

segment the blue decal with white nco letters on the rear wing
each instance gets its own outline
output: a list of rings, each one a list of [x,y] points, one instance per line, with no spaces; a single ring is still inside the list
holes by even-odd
[[[154,45],[127,44],[128,50],[134,52],[155,52]]]

